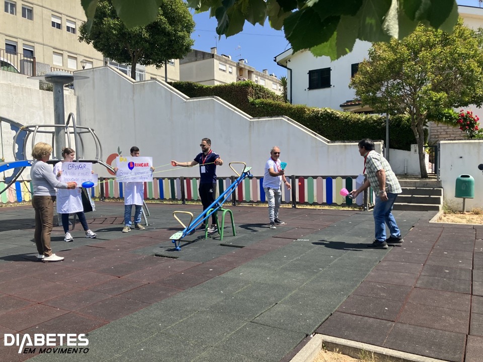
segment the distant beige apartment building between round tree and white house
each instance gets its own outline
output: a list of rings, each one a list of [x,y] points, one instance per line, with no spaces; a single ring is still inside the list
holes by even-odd
[[[266,69],[258,71],[245,59],[234,61],[229,55],[217,54],[216,47],[210,52],[193,49],[180,59],[180,80],[205,85],[251,80],[278,95],[282,94],[282,85],[275,74],[269,74]]]

